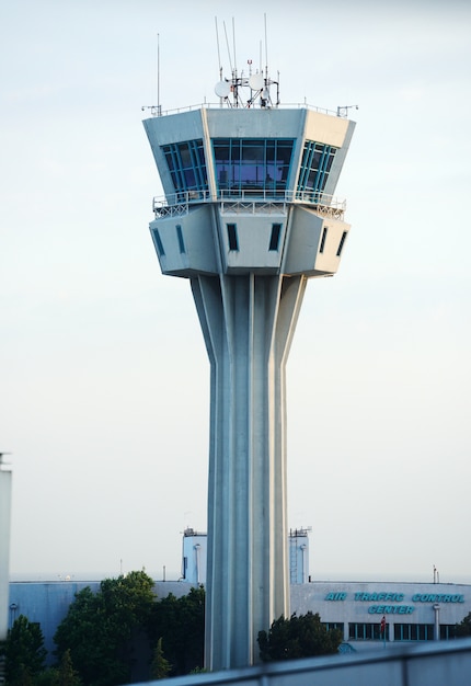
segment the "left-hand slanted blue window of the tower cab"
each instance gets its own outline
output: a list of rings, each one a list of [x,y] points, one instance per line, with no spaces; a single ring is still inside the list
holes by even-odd
[[[203,140],[186,140],[162,146],[173,187],[183,193],[182,201],[197,199],[208,190]]]

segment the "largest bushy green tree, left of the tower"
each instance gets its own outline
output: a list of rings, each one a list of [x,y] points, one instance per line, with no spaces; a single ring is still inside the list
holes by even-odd
[[[133,639],[147,624],[156,596],[146,572],[106,579],[100,591],[76,595],[54,640],[57,655],[70,658],[87,686],[116,686],[130,682]]]

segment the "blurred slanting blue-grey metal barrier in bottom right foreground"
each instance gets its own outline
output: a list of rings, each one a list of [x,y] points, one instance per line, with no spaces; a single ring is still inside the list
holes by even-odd
[[[172,678],[172,686],[468,686],[471,639],[274,662]],[[157,682],[147,682],[157,686]],[[160,682],[159,682],[160,684]]]

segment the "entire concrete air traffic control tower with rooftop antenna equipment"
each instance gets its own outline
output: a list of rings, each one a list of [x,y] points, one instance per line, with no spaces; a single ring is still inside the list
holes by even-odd
[[[266,73],[219,104],[143,122],[165,197],[152,241],[191,282],[210,361],[206,667],[259,662],[289,617],[286,362],[308,278],[332,276],[349,226],[333,194],[354,123],[282,107]]]

